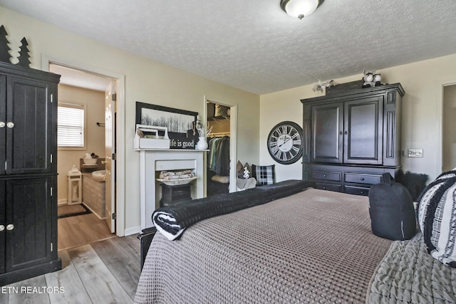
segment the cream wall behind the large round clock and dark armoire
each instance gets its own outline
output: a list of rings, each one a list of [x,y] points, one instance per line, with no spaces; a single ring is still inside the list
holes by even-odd
[[[439,113],[441,100],[438,96],[439,90],[442,90],[442,83],[456,78],[456,69],[452,68],[455,66],[456,54],[378,70],[382,74],[383,82],[401,83],[405,90],[401,150],[423,149],[423,158],[402,157],[405,171],[429,174],[430,179],[441,172],[437,169],[437,159],[441,157],[437,149],[440,145],[439,117],[441,115]],[[361,78],[362,72],[335,80],[338,83],[348,83]],[[302,126],[300,100],[323,94],[314,92],[313,87],[314,85],[305,85],[260,96],[259,159],[261,164],[274,163],[266,149],[266,138],[276,123],[291,120]],[[276,176],[278,181],[301,178],[301,163],[276,164]]]

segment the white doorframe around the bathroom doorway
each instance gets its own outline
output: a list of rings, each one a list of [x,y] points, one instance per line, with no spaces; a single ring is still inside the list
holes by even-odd
[[[116,153],[116,187],[115,187],[115,213],[117,219],[115,221],[115,234],[117,236],[125,236],[125,75],[114,73],[110,70],[95,68],[91,65],[83,63],[74,63],[63,61],[59,58],[51,56],[41,56],[41,69],[49,71],[49,64],[62,65],[67,68],[81,70],[88,73],[100,75],[101,77],[111,78],[116,82],[116,135],[115,135],[115,153]]]

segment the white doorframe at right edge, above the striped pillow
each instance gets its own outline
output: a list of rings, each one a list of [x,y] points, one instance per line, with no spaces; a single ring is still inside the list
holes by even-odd
[[[436,176],[442,173],[443,168],[443,92],[445,87],[456,85],[456,78],[440,80],[437,83],[437,164]]]

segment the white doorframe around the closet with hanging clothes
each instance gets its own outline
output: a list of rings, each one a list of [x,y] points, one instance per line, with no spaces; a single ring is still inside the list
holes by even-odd
[[[202,121],[207,123],[207,103],[217,103],[229,107],[229,192],[236,192],[236,163],[237,163],[237,103],[219,100],[204,95],[204,107]],[[207,164],[206,154],[204,154],[204,164]],[[206,178],[204,172],[204,178]],[[206,193],[206,183],[204,183],[204,193]]]

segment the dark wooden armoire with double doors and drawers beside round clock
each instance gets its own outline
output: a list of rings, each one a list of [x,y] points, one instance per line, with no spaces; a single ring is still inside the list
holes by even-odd
[[[303,179],[319,189],[368,195],[400,168],[400,83],[318,98],[303,104]]]

